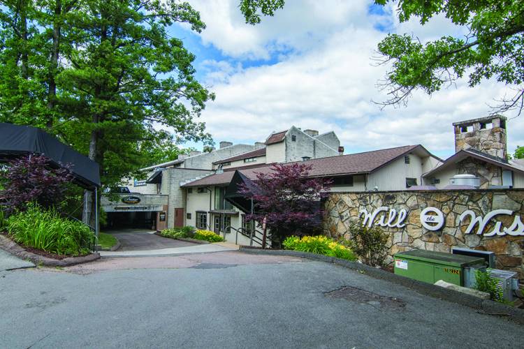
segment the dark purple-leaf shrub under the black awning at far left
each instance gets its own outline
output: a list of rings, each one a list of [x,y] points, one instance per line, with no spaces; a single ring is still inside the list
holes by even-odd
[[[46,208],[57,207],[64,200],[73,176],[67,165],[53,168],[47,157],[29,155],[10,161],[0,172],[0,179],[8,211],[24,211],[29,202]]]

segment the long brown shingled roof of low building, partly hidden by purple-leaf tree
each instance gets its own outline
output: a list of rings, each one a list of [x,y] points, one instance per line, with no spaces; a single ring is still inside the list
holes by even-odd
[[[395,158],[403,156],[419,147],[430,154],[429,151],[425,150],[421,145],[407,145],[405,147],[365,151],[364,153],[316,158],[303,161],[303,163],[312,166],[312,169],[310,170],[311,177],[330,177],[342,176],[344,174],[370,173],[395,160]],[[240,167],[236,168],[236,170],[245,174],[249,179],[256,179],[256,173],[268,173],[271,171],[271,166],[272,165],[268,164],[257,168]],[[234,173],[235,171],[231,168],[226,172],[211,174],[208,177],[192,181],[185,184],[184,187],[229,184]]]

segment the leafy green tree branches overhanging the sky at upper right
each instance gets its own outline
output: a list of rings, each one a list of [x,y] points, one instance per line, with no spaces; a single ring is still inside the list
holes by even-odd
[[[376,0],[379,5],[393,0]],[[445,15],[453,24],[469,29],[466,38],[442,36],[421,43],[408,34],[388,34],[378,45],[379,64],[391,65],[384,88],[392,98],[384,104],[406,103],[414,89],[427,94],[439,91],[469,74],[470,87],[495,78],[514,84],[514,96],[505,98],[493,112],[516,109],[524,101],[524,1],[401,0],[400,22],[419,17],[425,24]]]

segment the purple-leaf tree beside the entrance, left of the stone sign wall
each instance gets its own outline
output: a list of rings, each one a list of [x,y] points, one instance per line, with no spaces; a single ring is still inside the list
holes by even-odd
[[[331,181],[309,177],[310,165],[288,163],[272,165],[269,172],[256,173],[256,188],[241,186],[240,193],[254,200],[252,219],[270,230],[273,242],[290,235],[312,235],[321,231],[321,200]]]

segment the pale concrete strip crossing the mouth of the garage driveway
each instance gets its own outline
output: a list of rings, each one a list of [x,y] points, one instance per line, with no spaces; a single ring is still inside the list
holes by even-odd
[[[210,253],[222,251],[236,251],[238,246],[232,244],[205,244],[176,248],[161,248],[145,251],[101,251],[102,257],[151,257],[161,255],[187,255],[190,253]]]

